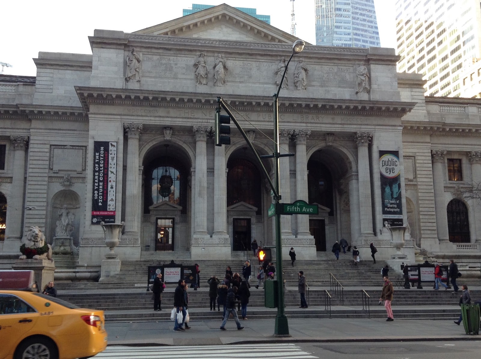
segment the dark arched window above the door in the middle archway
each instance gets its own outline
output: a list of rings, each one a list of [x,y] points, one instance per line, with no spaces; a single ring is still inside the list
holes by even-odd
[[[229,160],[227,173],[227,206],[245,202],[262,214],[261,177],[254,164],[245,159]]]

